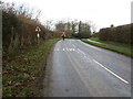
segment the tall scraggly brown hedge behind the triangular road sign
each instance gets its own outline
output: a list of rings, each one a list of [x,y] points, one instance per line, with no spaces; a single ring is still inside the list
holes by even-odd
[[[20,7],[22,8],[22,7]],[[23,7],[24,8],[24,7]],[[55,37],[57,33],[48,30],[38,19],[32,19],[24,9],[14,4],[2,3],[2,46],[10,52],[38,44],[35,28],[40,26],[40,42]],[[58,35],[59,36],[59,35]]]

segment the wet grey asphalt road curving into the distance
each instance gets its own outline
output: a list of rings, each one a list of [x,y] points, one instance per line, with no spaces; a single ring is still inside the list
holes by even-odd
[[[130,57],[80,40],[61,40],[49,66],[47,97],[131,97]]]

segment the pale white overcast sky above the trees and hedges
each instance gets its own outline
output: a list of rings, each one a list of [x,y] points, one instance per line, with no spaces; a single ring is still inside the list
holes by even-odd
[[[98,30],[131,23],[132,0],[3,0],[41,10],[40,21],[78,19],[92,21]]]

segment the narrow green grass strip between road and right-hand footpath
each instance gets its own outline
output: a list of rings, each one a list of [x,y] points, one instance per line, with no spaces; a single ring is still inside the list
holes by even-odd
[[[106,48],[106,50],[111,50],[111,51],[127,55],[130,57],[133,57],[133,52],[131,52],[129,50],[122,50],[122,48],[117,48],[117,47],[112,47],[112,46],[106,46],[106,45],[93,43],[93,42],[90,42],[90,41],[88,41],[85,38],[82,38],[81,41],[83,41],[85,43],[89,43],[89,44],[92,44],[92,45],[95,45],[95,46],[99,46],[99,47],[103,47],[103,48]]]

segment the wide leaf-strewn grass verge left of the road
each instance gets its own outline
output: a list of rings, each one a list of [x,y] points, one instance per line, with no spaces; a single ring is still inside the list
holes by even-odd
[[[3,52],[3,97],[40,97],[47,58],[57,41],[52,38],[12,55]]]

